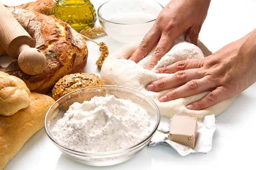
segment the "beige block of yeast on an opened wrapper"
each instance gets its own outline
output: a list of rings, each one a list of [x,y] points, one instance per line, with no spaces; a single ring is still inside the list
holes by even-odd
[[[172,117],[169,140],[194,148],[197,129],[197,118],[175,115]]]

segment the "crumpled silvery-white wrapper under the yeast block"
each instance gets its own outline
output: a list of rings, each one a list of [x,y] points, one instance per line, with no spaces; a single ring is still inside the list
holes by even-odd
[[[180,113],[176,115],[189,116]],[[174,148],[181,156],[186,156],[194,152],[208,153],[212,149],[212,138],[216,130],[214,115],[205,116],[204,119],[198,119],[198,130],[194,149],[168,140],[171,121],[162,123],[158,127],[148,146],[164,144]]]

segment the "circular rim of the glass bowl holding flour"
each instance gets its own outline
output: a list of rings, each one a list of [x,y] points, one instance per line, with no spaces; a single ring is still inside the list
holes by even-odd
[[[127,148],[124,148],[124,149],[121,149],[121,150],[113,150],[113,151],[108,151],[108,152],[84,152],[84,151],[80,151],[80,150],[75,150],[75,149],[72,149],[70,147],[67,147],[67,146],[64,146],[63,144],[57,142],[53,137],[52,135],[49,133],[49,130],[48,130],[48,127],[47,127],[47,116],[50,112],[50,110],[53,108],[53,106],[55,106],[61,99],[67,97],[67,96],[70,96],[71,94],[73,93],[76,93],[77,91],[81,91],[81,90],[84,90],[84,89],[87,89],[87,88],[97,88],[97,87],[114,87],[114,88],[125,88],[125,89],[128,89],[128,90],[131,90],[131,91],[134,91],[134,92],[137,92],[141,95],[143,95],[144,97],[146,97],[147,99],[149,99],[149,101],[152,102],[152,104],[154,105],[154,108],[156,108],[157,110],[157,121],[156,121],[156,124],[154,126],[154,129],[152,130],[152,132],[145,138],[143,139],[142,141],[138,142],[137,144],[134,144],[130,147],[127,147]],[[47,110],[47,113],[44,117],[44,130],[47,134],[47,136],[49,137],[49,139],[55,144],[57,145],[58,147],[61,147],[61,149],[64,149],[66,151],[69,151],[69,152],[72,152],[72,153],[75,153],[75,154],[84,154],[84,155],[94,155],[94,156],[107,156],[107,155],[112,155],[112,154],[118,154],[118,153],[122,153],[122,152],[125,152],[125,151],[129,151],[133,148],[136,148],[136,147],[140,147],[141,144],[145,143],[146,141],[148,141],[148,139],[150,139],[151,137],[154,136],[154,133],[157,131],[157,128],[160,124],[160,111],[159,111],[159,108],[157,106],[157,104],[154,102],[154,100],[152,100],[150,97],[148,97],[147,95],[141,93],[140,91],[137,91],[137,90],[134,90],[132,88],[127,88],[127,87],[123,87],[123,86],[117,86],[117,85],[97,85],[97,86],[90,86],[90,87],[86,87],[86,88],[81,88],[81,89],[78,89],[76,91],[72,91],[70,92],[69,94],[66,94],[65,96],[62,96],[61,98],[59,98],[58,100],[56,100],[51,106],[50,108]]]

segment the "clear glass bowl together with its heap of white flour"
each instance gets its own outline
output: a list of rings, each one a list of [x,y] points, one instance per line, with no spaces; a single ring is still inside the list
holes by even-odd
[[[113,85],[79,89],[47,111],[49,139],[71,159],[93,166],[127,161],[153,137],[160,113],[139,91]]]

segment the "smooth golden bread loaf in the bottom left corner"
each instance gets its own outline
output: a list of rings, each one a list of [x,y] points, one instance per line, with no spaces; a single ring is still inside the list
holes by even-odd
[[[44,116],[53,103],[49,96],[31,93],[27,108],[12,116],[0,116],[0,170],[43,127]]]

